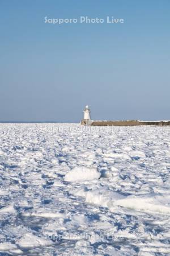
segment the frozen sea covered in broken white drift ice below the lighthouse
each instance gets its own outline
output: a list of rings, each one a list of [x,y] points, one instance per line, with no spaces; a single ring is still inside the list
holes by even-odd
[[[0,255],[170,255],[170,127],[0,124]]]

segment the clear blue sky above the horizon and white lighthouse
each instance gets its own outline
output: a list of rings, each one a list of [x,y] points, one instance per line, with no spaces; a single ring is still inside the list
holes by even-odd
[[[169,0],[1,0],[0,120],[79,122],[86,104],[92,119],[170,119],[169,13]]]

